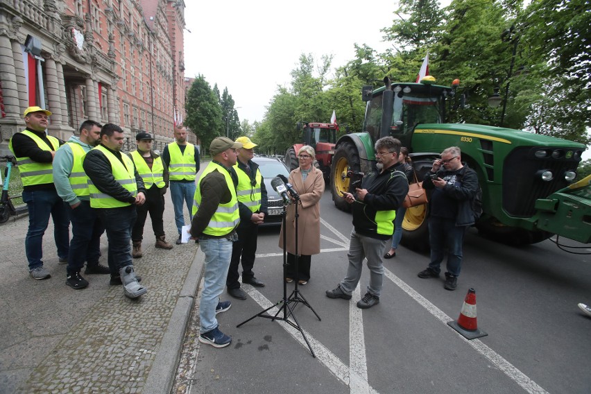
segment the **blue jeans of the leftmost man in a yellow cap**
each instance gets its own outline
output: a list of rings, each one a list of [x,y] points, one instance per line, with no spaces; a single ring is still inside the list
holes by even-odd
[[[23,191],[23,201],[28,208],[28,231],[25,238],[25,253],[28,270],[43,266],[43,235],[53,219],[53,239],[58,247],[58,257],[68,258],[69,219],[64,201],[55,190]]]

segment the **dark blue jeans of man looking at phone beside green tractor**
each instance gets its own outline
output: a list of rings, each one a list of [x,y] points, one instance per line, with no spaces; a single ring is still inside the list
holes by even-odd
[[[462,268],[462,246],[467,226],[456,226],[455,219],[436,216],[429,218],[429,243],[431,243],[431,262],[429,268],[440,273],[445,248],[447,247],[447,272],[460,275]]]

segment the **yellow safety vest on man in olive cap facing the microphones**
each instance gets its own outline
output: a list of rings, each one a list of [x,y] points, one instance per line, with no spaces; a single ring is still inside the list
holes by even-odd
[[[230,189],[230,192],[232,193],[232,199],[229,203],[218,205],[216,212],[212,216],[212,219],[209,220],[209,224],[207,224],[207,227],[205,230],[203,230],[203,234],[212,235],[214,237],[222,237],[223,235],[230,234],[230,232],[236,228],[238,223],[240,223],[238,198],[236,197],[234,182],[232,182],[232,177],[230,177],[228,170],[223,168],[223,166],[214,162],[209,162],[207,167],[205,167],[201,178],[199,178],[197,189],[195,190],[193,216],[197,214],[199,205],[201,204],[201,180],[205,178],[205,175],[213,171],[219,171],[224,175],[225,182],[228,184],[228,189]]]

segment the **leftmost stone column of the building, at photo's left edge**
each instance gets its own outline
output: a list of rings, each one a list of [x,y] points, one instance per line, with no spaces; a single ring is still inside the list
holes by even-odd
[[[0,80],[2,81],[4,112],[6,112],[6,117],[20,118],[19,87],[15,73],[10,38],[0,35]]]

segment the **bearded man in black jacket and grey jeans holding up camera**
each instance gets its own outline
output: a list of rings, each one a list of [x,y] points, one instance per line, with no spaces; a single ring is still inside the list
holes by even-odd
[[[409,192],[406,175],[396,171],[400,141],[383,137],[375,142],[377,171],[368,173],[357,187],[357,198],[345,193],[345,201],[352,204],[353,230],[349,243],[349,266],[345,279],[336,289],[327,290],[329,298],[351,299],[351,293],[361,278],[363,259],[367,257],[370,283],[366,295],[357,302],[357,307],[367,309],[379,303],[384,279],[382,255],[386,243],[394,232],[396,209],[402,205]]]

